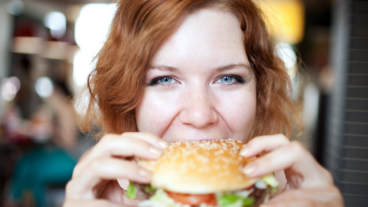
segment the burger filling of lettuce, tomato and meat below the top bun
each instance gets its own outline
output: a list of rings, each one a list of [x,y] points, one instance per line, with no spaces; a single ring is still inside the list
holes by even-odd
[[[277,186],[273,175],[264,176],[248,189],[212,194],[173,193],[131,182],[127,197],[141,200],[139,207],[256,207],[267,201]]]

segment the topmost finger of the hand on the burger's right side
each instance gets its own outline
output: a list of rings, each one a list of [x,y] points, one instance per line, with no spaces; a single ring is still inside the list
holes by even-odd
[[[290,140],[283,134],[258,136],[251,139],[240,150],[240,155],[244,157],[254,157],[262,152],[269,152],[290,143]]]

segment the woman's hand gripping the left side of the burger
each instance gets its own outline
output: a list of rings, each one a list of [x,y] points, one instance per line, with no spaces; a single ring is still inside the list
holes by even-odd
[[[129,205],[123,186],[117,180],[149,183],[151,172],[125,158],[155,160],[168,146],[167,142],[151,133],[126,132],[103,136],[75,166],[72,179],[66,186],[63,206]]]

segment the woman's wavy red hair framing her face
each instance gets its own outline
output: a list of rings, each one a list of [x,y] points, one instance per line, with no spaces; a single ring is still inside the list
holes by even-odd
[[[88,77],[90,102],[83,131],[89,131],[92,123],[98,124],[101,133],[137,131],[134,111],[142,99],[143,77],[152,57],[180,25],[183,15],[205,7],[220,8],[240,19],[246,54],[258,80],[251,136],[291,135],[290,120],[296,110],[290,77],[252,0],[120,0]]]

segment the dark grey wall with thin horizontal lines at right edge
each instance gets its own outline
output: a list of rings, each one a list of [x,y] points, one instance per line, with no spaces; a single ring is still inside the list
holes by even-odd
[[[331,67],[335,82],[323,164],[347,207],[368,206],[368,1],[336,0]]]

